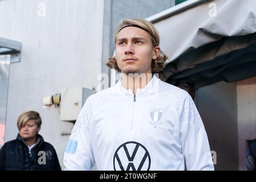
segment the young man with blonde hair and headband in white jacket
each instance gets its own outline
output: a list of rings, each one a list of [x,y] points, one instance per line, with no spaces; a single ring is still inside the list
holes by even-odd
[[[68,170],[213,170],[207,133],[192,98],[151,73],[164,68],[159,35],[143,19],[123,20],[108,66],[114,87],[90,96],[69,139]]]

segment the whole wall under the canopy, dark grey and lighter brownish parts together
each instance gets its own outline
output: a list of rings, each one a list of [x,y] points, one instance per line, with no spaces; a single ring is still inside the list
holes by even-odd
[[[247,140],[256,138],[256,77],[201,88],[195,99],[217,170],[243,170]]]

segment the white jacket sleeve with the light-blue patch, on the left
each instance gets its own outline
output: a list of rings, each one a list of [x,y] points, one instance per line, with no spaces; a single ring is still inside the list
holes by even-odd
[[[90,142],[90,119],[92,118],[89,98],[82,107],[73,127],[64,153],[64,170],[90,170],[95,161]]]

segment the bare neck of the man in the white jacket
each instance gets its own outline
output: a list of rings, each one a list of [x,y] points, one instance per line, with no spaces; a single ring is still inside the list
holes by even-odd
[[[136,94],[137,89],[143,89],[146,87],[148,82],[152,79],[152,73],[142,73],[142,74],[125,74],[121,73],[122,86],[129,90],[131,89],[134,94]]]

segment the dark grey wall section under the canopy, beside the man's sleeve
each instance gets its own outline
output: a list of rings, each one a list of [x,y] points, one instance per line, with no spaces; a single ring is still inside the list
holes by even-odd
[[[238,170],[237,87],[218,82],[200,88],[195,98],[208,134],[210,149],[217,153],[216,170]]]

